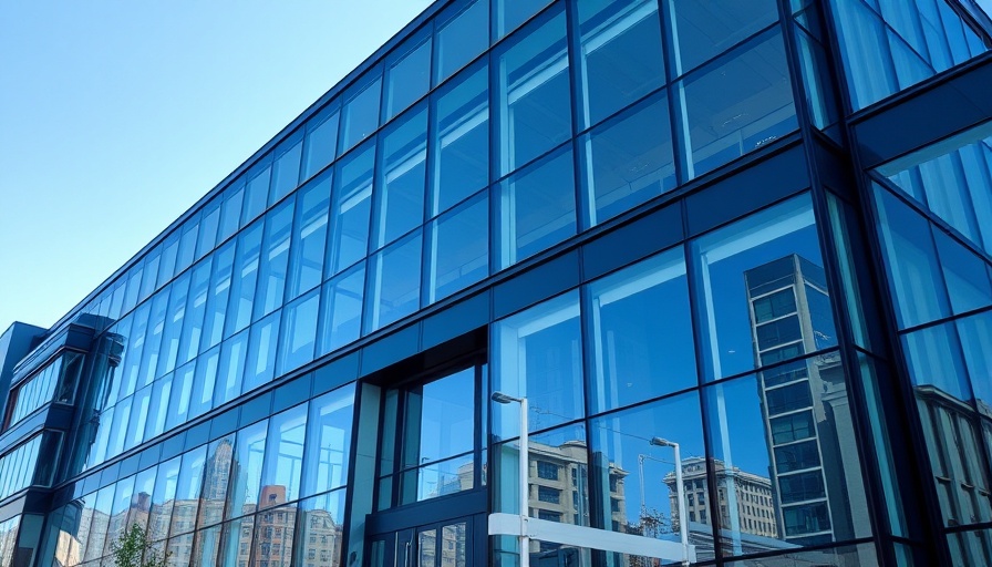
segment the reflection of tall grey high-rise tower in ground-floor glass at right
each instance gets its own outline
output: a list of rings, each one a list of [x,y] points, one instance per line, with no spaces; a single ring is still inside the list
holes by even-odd
[[[837,344],[822,267],[790,255],[744,272],[754,355],[761,365]],[[777,533],[814,545],[854,538],[848,498],[862,498],[852,458],[847,385],[836,352],[758,373],[758,394],[776,497]],[[854,464],[851,464],[854,463]],[[744,530],[743,526],[740,530]]]

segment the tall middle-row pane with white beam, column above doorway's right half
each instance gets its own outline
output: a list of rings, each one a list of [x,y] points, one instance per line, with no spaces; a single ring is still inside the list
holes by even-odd
[[[488,183],[488,68],[482,66],[459,75],[434,99],[432,215],[446,210]]]

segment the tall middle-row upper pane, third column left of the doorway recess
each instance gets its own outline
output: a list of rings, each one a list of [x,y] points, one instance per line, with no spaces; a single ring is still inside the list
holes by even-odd
[[[258,320],[282,306],[292,236],[293,200],[294,197],[286,199],[266,215],[252,320]]]

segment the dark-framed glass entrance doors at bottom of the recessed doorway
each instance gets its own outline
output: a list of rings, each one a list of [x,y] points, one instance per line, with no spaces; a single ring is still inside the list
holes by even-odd
[[[373,536],[370,566],[468,567],[472,524],[472,517],[463,517]]]

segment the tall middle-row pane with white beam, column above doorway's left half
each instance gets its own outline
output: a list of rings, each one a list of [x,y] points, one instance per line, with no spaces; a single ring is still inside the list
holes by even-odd
[[[388,126],[381,136],[375,184],[375,239],[379,248],[424,221],[427,109],[421,105]]]

